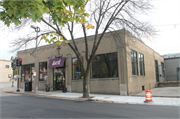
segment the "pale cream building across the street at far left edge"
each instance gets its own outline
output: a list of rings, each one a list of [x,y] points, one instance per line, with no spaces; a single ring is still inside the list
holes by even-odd
[[[0,60],[0,82],[9,82],[12,76],[11,61]]]

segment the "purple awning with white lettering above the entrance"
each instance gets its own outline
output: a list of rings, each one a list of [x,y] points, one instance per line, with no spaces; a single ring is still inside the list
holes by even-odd
[[[63,67],[65,59],[66,59],[65,57],[51,59],[50,62],[49,62],[49,67],[48,68]]]

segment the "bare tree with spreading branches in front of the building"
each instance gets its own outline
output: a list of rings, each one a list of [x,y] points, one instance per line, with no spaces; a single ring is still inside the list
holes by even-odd
[[[126,29],[134,35],[135,37],[149,37],[155,34],[155,30],[148,22],[142,22],[139,15],[146,14],[147,11],[152,9],[150,4],[150,0],[92,0],[87,4],[87,10],[90,7],[89,11],[91,11],[91,18],[89,19],[89,23],[94,24],[94,41],[93,47],[89,50],[88,46],[88,30],[86,29],[86,24],[75,24],[74,22],[67,22],[66,26],[60,28],[60,25],[57,23],[53,25],[52,22],[41,18],[42,22],[49,26],[53,31],[55,31],[59,36],[63,37],[63,39],[67,40],[65,34],[63,34],[64,28],[67,28],[71,35],[71,42],[68,43],[69,47],[76,54],[82,69],[83,74],[83,97],[88,98],[88,84],[89,84],[89,75],[90,75],[90,66],[92,60],[96,54],[96,51],[99,47],[99,44],[102,41],[105,33],[108,31],[114,31],[119,29]],[[69,7],[69,11],[72,11],[71,7]],[[53,20],[51,20],[53,21]],[[83,61],[81,59],[81,51],[79,51],[77,44],[74,38],[74,29],[76,25],[81,25],[82,33],[84,35],[85,41],[85,60],[87,62],[87,66],[84,66]],[[40,36],[43,36],[41,34]],[[121,38],[120,35],[116,37]],[[14,46],[23,46],[27,44],[34,38],[19,39],[20,41],[14,44]],[[21,44],[21,45],[20,45]]]

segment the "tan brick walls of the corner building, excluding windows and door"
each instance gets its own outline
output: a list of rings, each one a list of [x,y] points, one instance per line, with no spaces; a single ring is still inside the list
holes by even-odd
[[[118,34],[118,35],[117,35]],[[121,37],[119,37],[119,35]],[[128,41],[125,37],[125,30],[116,31],[113,33],[106,33],[99,45],[96,52],[98,54],[115,53],[117,52],[117,62],[118,62],[118,75],[119,77],[113,78],[95,78],[91,79],[89,77],[89,91],[90,93],[98,94],[120,94],[120,95],[132,95],[142,91],[142,86],[145,89],[154,88],[156,84],[155,75],[155,59],[159,62],[164,62],[164,59],[154,52],[151,48],[146,46],[144,43],[136,39],[135,41]],[[88,37],[89,51],[93,46],[94,36]],[[83,38],[75,40],[77,42],[77,47],[82,54],[85,56],[85,46]],[[70,42],[71,43],[71,42]],[[129,46],[126,46],[128,44]],[[130,45],[131,44],[131,45]],[[49,65],[49,60],[54,59],[57,56],[57,45],[46,45],[38,47],[37,49],[37,69],[39,71],[39,63],[47,62]],[[71,48],[62,43],[60,46],[60,55],[66,57],[65,61],[65,81],[66,87],[70,92],[83,92],[83,80],[72,80],[72,58],[76,58],[76,55],[71,50]],[[144,54],[145,57],[145,76],[133,76],[132,66],[131,66],[131,49],[137,51],[138,53]],[[31,55],[34,49],[28,49],[18,52],[18,57],[22,58],[22,64],[33,64],[35,62],[34,54]],[[85,57],[84,57],[85,59]],[[86,62],[84,60],[84,64]],[[138,65],[139,67],[139,65]],[[139,69],[139,68],[138,68]],[[47,69],[48,83],[53,85],[53,68]],[[130,80],[131,79],[131,80]],[[38,90],[44,90],[44,83],[46,81],[39,81],[39,73],[37,72],[36,84]],[[20,82],[20,86],[24,87],[24,82]],[[149,87],[150,86],[150,87]],[[51,89],[52,90],[52,89]]]

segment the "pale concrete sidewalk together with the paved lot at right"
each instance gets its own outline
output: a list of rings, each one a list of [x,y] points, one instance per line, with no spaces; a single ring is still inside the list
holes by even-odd
[[[61,98],[68,100],[91,100],[96,102],[110,102],[110,103],[125,103],[125,104],[144,104],[144,105],[173,105],[180,106],[180,87],[167,87],[167,88],[155,88],[152,89],[151,103],[145,103],[145,92],[139,93],[133,96],[121,96],[121,95],[104,95],[104,94],[90,94],[90,99],[84,99],[82,93],[62,93],[61,91],[36,91],[36,94],[32,92],[24,92],[24,89],[20,89],[20,92],[16,92],[16,83],[14,87],[11,84],[1,84],[2,90],[7,93],[16,93],[24,95],[45,96],[50,98]],[[154,96],[155,95],[155,96]],[[154,97],[153,97],[154,96]]]

